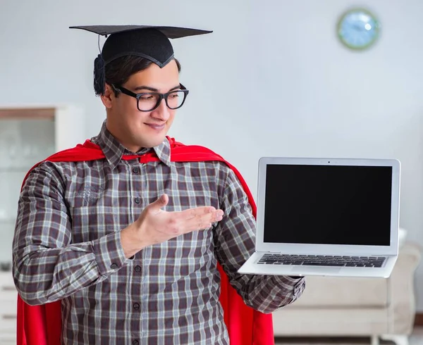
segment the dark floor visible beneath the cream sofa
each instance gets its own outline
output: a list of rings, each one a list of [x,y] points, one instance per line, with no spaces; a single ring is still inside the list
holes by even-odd
[[[278,338],[275,345],[370,345],[369,338]],[[380,341],[380,345],[393,345]],[[417,327],[409,338],[409,345],[423,345],[423,327]]]

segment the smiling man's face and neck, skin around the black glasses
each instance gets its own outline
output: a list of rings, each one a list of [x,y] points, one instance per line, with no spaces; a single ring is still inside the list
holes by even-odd
[[[128,82],[121,86],[136,94],[165,94],[179,87],[176,61],[171,61],[164,68],[152,63],[147,69],[131,75]],[[133,152],[161,144],[176,113],[166,106],[164,99],[154,111],[139,111],[137,99],[126,94],[118,94],[116,97],[108,84],[102,101],[107,108],[107,129],[123,146]]]

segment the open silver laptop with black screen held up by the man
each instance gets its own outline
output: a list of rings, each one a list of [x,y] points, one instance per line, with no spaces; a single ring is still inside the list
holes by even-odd
[[[261,158],[255,253],[238,272],[389,277],[399,198],[394,159]]]

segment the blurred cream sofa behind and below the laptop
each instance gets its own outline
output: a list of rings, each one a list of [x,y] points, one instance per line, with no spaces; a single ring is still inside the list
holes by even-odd
[[[400,245],[391,277],[306,278],[304,293],[274,312],[275,337],[369,337],[407,345],[415,320],[414,273],[421,248]]]

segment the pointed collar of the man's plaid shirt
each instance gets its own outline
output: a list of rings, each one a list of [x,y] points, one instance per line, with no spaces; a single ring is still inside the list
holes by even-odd
[[[106,120],[104,120],[102,129],[97,137],[93,137],[91,141],[100,146],[100,149],[102,149],[104,156],[106,156],[106,160],[109,165],[111,165],[111,168],[116,168],[116,165],[118,165],[121,161],[123,155],[136,154],[138,156],[142,156],[151,150],[154,150],[159,160],[164,164],[170,165],[171,163],[171,146],[168,139],[165,138],[161,144],[154,146],[151,149],[141,149],[140,151],[134,153],[126,149],[125,146],[118,142],[111,132],[107,130]]]

